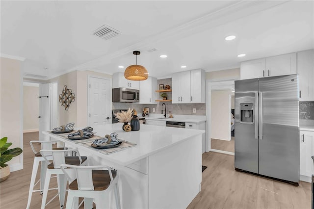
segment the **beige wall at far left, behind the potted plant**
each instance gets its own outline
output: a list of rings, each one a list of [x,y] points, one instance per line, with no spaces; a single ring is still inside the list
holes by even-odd
[[[21,61],[1,57],[0,59],[0,138],[7,136],[8,142],[12,142],[10,148],[21,147],[23,138],[21,126],[22,115],[22,74]],[[22,163],[23,153],[20,157],[14,157],[9,165]]]

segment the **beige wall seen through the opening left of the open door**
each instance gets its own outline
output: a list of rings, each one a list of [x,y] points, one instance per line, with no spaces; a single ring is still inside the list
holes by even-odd
[[[23,130],[38,130],[39,87],[23,86]]]

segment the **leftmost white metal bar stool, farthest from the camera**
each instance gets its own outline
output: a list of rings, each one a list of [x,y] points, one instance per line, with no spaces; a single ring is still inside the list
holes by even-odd
[[[27,200],[27,206],[26,209],[29,209],[30,202],[31,202],[31,197],[33,192],[38,192],[40,191],[40,194],[43,193],[44,190],[44,183],[45,183],[45,176],[46,176],[46,170],[47,170],[47,163],[45,161],[45,158],[42,157],[42,155],[37,152],[34,148],[35,143],[40,143],[41,145],[41,150],[65,150],[67,148],[65,147],[59,147],[59,148],[52,148],[52,144],[56,143],[59,141],[30,141],[30,147],[35,154],[34,157],[34,163],[33,163],[33,170],[31,173],[31,178],[30,178],[30,184],[29,184],[29,192],[28,192],[28,200]],[[47,159],[52,160],[52,155],[46,156]],[[37,170],[40,162],[40,179],[35,183],[36,180],[36,175],[37,175]],[[34,187],[37,183],[40,182],[40,189],[39,190],[34,190]],[[57,188],[52,188],[52,189],[57,189]]]

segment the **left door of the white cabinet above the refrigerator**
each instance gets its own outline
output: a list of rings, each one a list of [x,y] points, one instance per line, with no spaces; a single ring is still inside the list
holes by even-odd
[[[264,77],[265,67],[266,67],[265,58],[241,62],[240,78],[242,80]]]

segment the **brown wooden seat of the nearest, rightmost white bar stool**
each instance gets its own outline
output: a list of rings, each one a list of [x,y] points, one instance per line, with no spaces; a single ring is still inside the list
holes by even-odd
[[[117,171],[112,170],[112,177],[115,178]],[[103,191],[110,185],[110,176],[107,170],[92,170],[92,179],[94,185],[94,191]],[[69,188],[72,190],[78,190],[77,179],[70,183]]]

